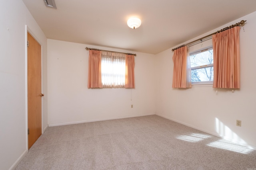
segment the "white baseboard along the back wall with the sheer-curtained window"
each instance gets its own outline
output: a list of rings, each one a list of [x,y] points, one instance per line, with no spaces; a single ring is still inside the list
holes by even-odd
[[[120,117],[112,117],[112,118],[106,118],[106,119],[92,119],[92,120],[85,120],[85,121],[73,121],[73,122],[65,122],[65,123],[54,123],[54,124],[48,124],[48,127],[62,126],[62,125],[72,125],[72,124],[78,124],[78,123],[88,123],[88,122],[94,122],[94,121],[123,119],[123,118],[129,118],[129,117],[148,116],[148,115],[155,115],[155,113],[142,114],[142,115],[120,116]]]

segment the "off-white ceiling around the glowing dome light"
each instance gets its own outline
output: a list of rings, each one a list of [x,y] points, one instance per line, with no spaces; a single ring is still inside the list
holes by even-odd
[[[150,54],[256,11],[256,0],[55,0],[57,9],[23,2],[48,39]],[[141,26],[128,27],[130,17]]]

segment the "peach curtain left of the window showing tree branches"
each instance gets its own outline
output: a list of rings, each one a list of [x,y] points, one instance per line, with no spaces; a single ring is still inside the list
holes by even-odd
[[[191,88],[191,67],[188,47],[184,46],[174,51],[172,88]]]

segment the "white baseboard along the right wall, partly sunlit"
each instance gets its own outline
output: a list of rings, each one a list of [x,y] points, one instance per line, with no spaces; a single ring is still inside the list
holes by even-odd
[[[218,133],[214,133],[214,132],[211,132],[211,131],[207,131],[207,130],[205,130],[205,129],[201,129],[201,128],[199,128],[199,127],[196,127],[196,126],[193,126],[193,125],[189,125],[189,124],[187,124],[187,123],[178,121],[178,120],[176,120],[176,119],[172,119],[172,118],[170,118],[170,117],[166,117],[166,116],[163,116],[163,115],[159,115],[159,114],[157,114],[157,113],[156,113],[156,115],[158,115],[158,116],[160,116],[160,117],[164,117],[164,118],[169,119],[169,120],[171,120],[171,121],[175,121],[175,122],[180,123],[180,124],[182,124],[182,125],[186,125],[186,126],[188,126],[188,127],[192,127],[192,128],[194,128],[194,129],[203,131],[203,132],[205,132],[205,133],[209,133],[209,134],[214,135],[214,136],[216,136],[216,137],[220,137],[220,138],[222,138],[222,139],[226,139],[227,141],[231,141],[231,142],[232,142],[232,139],[229,139],[229,138],[227,138],[227,137],[225,137],[225,136],[221,136],[221,135],[219,135]],[[245,145],[244,143],[240,143],[239,141],[237,141],[236,143],[239,144],[239,145],[242,145],[242,146],[245,146],[245,147],[249,147],[249,148],[251,148],[251,149],[256,150],[256,146],[249,145],[249,144],[246,144],[246,145]]]

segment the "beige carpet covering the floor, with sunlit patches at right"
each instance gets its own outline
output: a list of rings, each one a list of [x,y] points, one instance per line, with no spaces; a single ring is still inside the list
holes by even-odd
[[[157,115],[48,127],[16,170],[256,170],[256,150]]]

